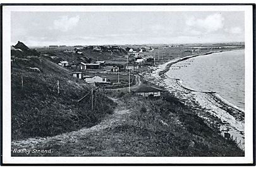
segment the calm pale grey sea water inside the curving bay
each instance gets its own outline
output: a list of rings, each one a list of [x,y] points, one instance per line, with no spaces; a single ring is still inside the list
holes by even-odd
[[[245,50],[200,55],[173,64],[167,75],[197,91],[215,91],[229,103],[245,108]]]

